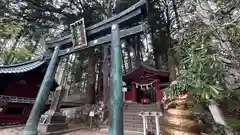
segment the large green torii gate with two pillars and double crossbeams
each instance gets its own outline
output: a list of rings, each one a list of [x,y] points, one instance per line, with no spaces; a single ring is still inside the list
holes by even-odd
[[[78,48],[72,48],[70,51],[60,50],[62,45],[71,44],[71,35],[54,41],[46,42],[55,47],[53,54],[45,56],[45,59],[51,59],[35,100],[34,106],[26,123],[24,130],[20,135],[37,135],[37,127],[41,117],[41,110],[48,98],[50,86],[54,80],[58,61],[62,56],[70,55],[81,50],[96,46],[107,45],[111,43],[112,47],[112,86],[115,86],[110,95],[111,125],[109,135],[123,135],[123,97],[122,97],[122,72],[121,72],[121,46],[120,39],[145,32],[145,24],[138,24],[131,28],[124,29],[126,23],[134,24],[141,22],[147,13],[147,1],[140,0],[130,8],[119,14],[94,24],[86,28],[86,35],[91,39],[87,45]],[[120,28],[122,30],[120,30]],[[105,33],[105,35],[101,35]],[[98,35],[98,38],[94,38]],[[99,36],[100,35],[100,36]]]

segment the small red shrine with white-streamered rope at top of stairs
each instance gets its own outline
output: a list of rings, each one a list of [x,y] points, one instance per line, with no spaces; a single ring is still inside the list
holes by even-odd
[[[123,80],[127,84],[127,91],[124,93],[125,102],[149,104],[162,99],[162,88],[169,78],[168,72],[141,63],[139,67],[123,76]]]

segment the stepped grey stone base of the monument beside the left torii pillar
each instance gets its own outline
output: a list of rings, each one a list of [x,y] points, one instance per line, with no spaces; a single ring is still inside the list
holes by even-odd
[[[63,116],[60,113],[42,115],[38,125],[38,132],[43,135],[66,129],[68,129],[66,116]]]

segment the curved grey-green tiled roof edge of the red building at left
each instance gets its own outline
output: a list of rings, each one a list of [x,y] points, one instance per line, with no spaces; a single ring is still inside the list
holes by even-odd
[[[13,65],[3,65],[0,66],[0,74],[14,74],[14,73],[24,73],[31,71],[37,67],[40,67],[45,63],[42,58],[36,58],[27,62]]]

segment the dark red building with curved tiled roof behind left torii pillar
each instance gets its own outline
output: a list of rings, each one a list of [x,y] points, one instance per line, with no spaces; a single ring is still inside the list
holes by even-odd
[[[40,89],[48,62],[41,58],[0,66],[0,125],[26,123]],[[58,86],[53,83],[51,90]],[[50,102],[45,106],[48,109]]]

